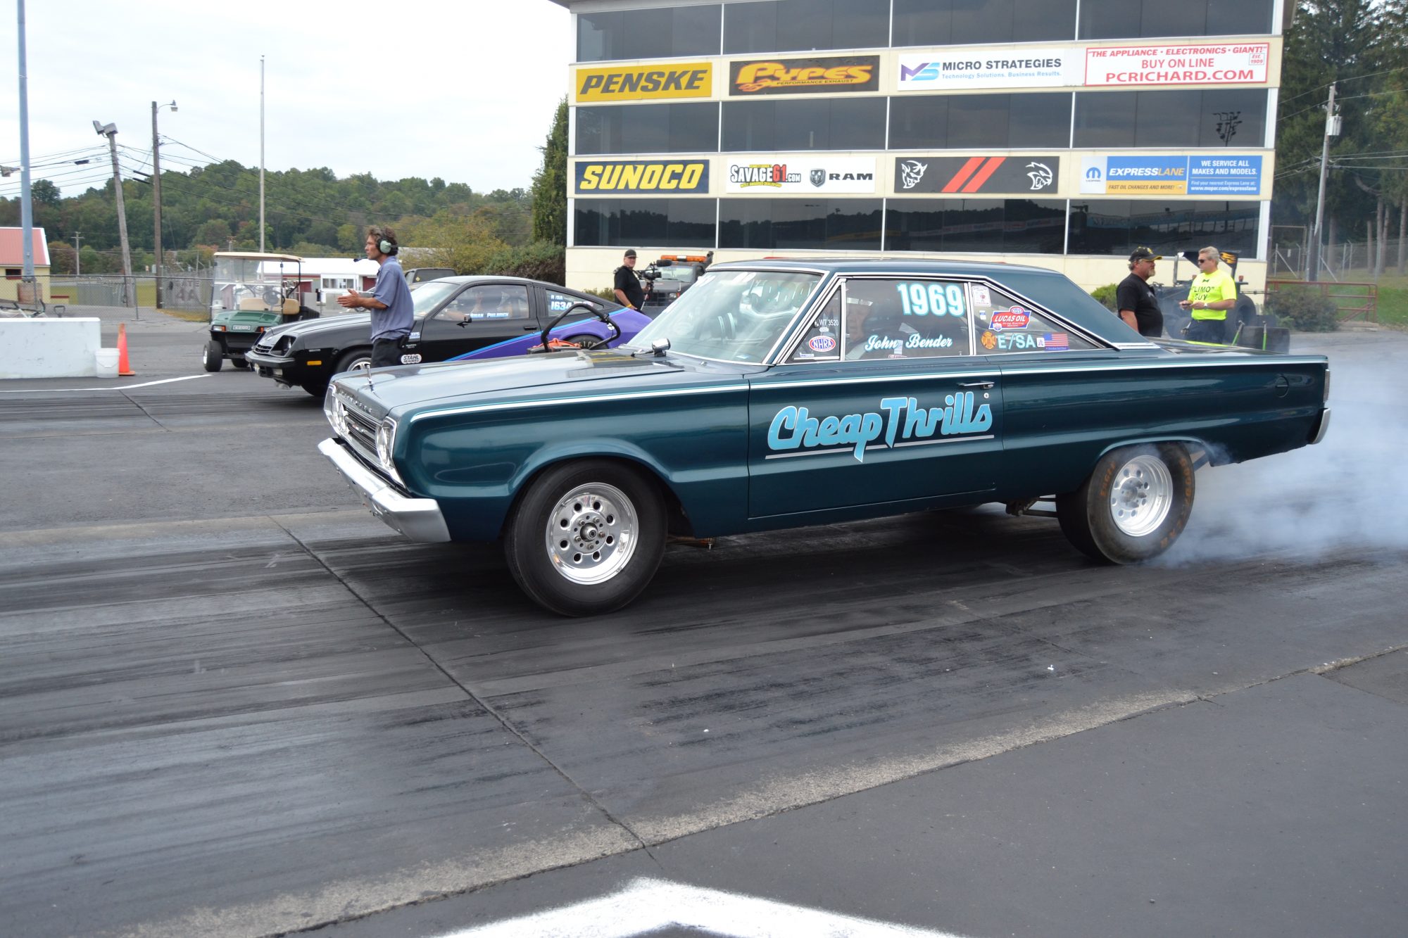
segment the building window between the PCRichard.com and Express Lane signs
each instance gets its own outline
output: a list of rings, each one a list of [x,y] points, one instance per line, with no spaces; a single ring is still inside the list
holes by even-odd
[[[1077,92],[1077,148],[1266,145],[1266,92]]]

